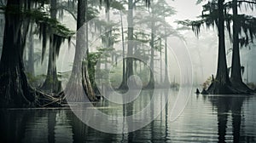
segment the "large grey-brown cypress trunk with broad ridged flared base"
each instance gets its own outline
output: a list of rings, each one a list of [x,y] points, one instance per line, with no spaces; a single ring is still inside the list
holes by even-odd
[[[71,77],[69,82],[67,83],[66,88],[66,98],[68,101],[89,101],[95,100],[96,96],[93,92],[93,89],[90,84],[88,67],[87,67],[87,56],[83,56],[84,51],[88,48],[86,47],[86,43],[84,39],[85,36],[85,28],[84,22],[85,20],[85,8],[86,8],[87,0],[79,0],[78,1],[78,21],[77,21],[77,40],[76,40],[76,51],[75,57],[73,61],[73,70],[71,73]],[[83,48],[86,47],[84,50]],[[81,84],[82,82],[82,84]],[[85,92],[85,93],[84,93]],[[84,96],[87,96],[89,100],[86,100]]]

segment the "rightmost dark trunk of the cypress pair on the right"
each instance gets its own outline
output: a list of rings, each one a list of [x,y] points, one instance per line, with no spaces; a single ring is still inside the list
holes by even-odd
[[[237,20],[237,0],[232,1],[233,11],[233,54],[232,54],[232,68],[230,81],[236,89],[246,92],[253,92],[249,89],[241,78],[241,62],[240,62],[240,49],[239,49],[239,26]]]

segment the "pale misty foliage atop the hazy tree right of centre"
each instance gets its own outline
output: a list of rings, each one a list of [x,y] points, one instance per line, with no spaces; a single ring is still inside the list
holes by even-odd
[[[144,7],[139,8],[146,10]],[[169,6],[166,1],[154,1],[154,3],[151,3],[150,5],[149,14],[146,16],[143,15],[143,19],[141,18],[142,15],[135,17],[137,19],[135,23],[147,26],[152,30],[153,35],[145,34],[143,31],[135,31],[134,38],[142,43],[149,43],[153,49],[160,51],[162,48],[162,45],[160,45],[161,38],[169,37],[171,35],[181,37],[181,35],[178,34],[178,32],[165,20],[166,17],[172,16],[173,14],[176,14],[175,9]]]

